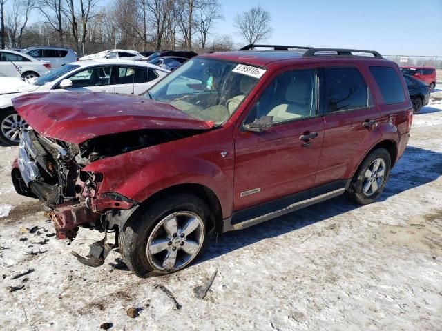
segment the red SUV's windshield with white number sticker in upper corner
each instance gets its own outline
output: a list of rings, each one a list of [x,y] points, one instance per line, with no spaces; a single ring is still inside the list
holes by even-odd
[[[265,69],[230,61],[186,61],[144,94],[191,117],[221,125],[256,86]]]

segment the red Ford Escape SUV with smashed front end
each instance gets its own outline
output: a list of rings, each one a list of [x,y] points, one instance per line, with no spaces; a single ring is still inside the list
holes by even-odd
[[[27,94],[12,181],[60,239],[117,232],[135,274],[169,273],[214,232],[345,194],[372,203],[403,154],[412,104],[378,52],[272,46],[193,57],[142,97]],[[291,50],[294,48],[294,50]]]

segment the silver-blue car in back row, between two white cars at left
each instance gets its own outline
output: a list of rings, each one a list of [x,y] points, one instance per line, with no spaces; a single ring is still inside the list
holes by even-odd
[[[64,47],[37,46],[21,50],[23,54],[39,60],[49,61],[52,69],[57,69],[65,64],[78,61],[78,55],[74,50]]]

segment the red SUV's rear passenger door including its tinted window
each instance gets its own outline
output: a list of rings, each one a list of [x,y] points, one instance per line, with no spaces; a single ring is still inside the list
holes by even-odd
[[[367,69],[352,63],[325,65],[325,135],[316,185],[352,177],[354,167],[381,137],[380,112],[372,99]]]

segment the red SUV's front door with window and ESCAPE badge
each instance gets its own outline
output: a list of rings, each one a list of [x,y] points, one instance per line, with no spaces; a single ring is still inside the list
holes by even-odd
[[[268,116],[271,127],[236,132],[233,210],[313,187],[324,136],[318,106],[316,68],[285,70],[269,83],[244,124]]]

